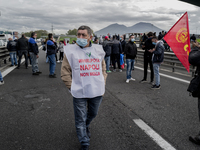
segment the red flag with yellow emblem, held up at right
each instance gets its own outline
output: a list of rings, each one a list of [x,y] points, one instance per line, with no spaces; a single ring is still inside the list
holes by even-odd
[[[188,56],[190,49],[190,33],[187,12],[176,22],[164,37],[177,58],[183,66],[190,72]]]

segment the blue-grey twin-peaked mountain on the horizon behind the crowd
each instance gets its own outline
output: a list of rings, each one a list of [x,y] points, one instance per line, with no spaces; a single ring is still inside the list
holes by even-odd
[[[156,32],[157,35],[159,32],[161,32],[163,29],[160,29],[156,26],[154,26],[151,23],[145,23],[145,22],[140,22],[137,23],[131,27],[126,27],[125,25],[119,25],[117,23],[111,24],[99,31],[96,31],[95,34],[100,36],[100,35],[107,35],[110,33],[111,35],[114,34],[125,34],[125,33],[145,33],[145,32]]]

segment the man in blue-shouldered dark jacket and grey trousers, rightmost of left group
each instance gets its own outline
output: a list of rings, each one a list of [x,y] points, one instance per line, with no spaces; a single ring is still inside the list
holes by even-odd
[[[35,32],[31,33],[31,38],[28,41],[28,50],[31,57],[31,65],[32,65],[32,74],[33,75],[39,75],[42,72],[39,71],[38,68],[38,58],[39,58],[39,50],[38,45],[35,42],[35,39],[37,37],[37,34]]]

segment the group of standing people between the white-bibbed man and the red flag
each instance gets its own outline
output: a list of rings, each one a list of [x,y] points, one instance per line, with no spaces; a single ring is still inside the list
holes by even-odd
[[[116,72],[117,67],[119,72],[122,72],[121,66],[123,63],[126,64],[126,83],[129,83],[130,81],[135,81],[135,79],[132,77],[132,71],[134,71],[135,58],[137,57],[137,45],[135,35],[130,35],[128,42],[125,41],[124,37],[124,35],[114,35],[111,38],[110,34],[108,33],[108,35],[104,37],[104,41],[102,43],[98,43],[98,38],[94,39],[94,43],[102,44],[102,47],[106,53],[105,63],[107,73],[111,73],[111,67],[113,67],[113,72]],[[144,33],[140,40],[141,47],[145,51],[144,77],[140,83],[147,82],[147,70],[149,65],[151,70],[151,88],[160,89],[161,85],[159,67],[163,62],[165,51],[163,36],[159,40],[155,33],[149,32],[147,35]],[[123,62],[124,58],[126,59],[125,62]]]

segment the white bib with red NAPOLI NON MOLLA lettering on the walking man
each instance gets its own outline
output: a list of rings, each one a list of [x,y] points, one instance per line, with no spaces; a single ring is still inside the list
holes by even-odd
[[[105,52],[102,46],[80,48],[77,44],[68,44],[64,53],[72,69],[71,94],[75,98],[94,98],[105,93],[102,61]]]

